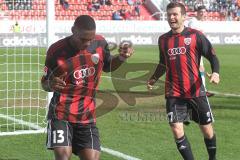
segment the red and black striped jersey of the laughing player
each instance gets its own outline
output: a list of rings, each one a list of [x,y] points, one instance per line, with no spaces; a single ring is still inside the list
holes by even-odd
[[[209,40],[198,30],[185,27],[179,34],[171,31],[158,40],[160,64],[166,68],[166,97],[193,98],[205,96],[199,72],[200,58],[206,57],[213,72],[219,63]]]

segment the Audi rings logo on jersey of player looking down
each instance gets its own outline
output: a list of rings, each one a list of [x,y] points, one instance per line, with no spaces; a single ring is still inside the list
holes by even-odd
[[[95,74],[95,68],[89,67],[89,68],[82,68],[79,70],[75,70],[73,73],[73,77],[79,80],[79,79],[93,76],[94,74]]]

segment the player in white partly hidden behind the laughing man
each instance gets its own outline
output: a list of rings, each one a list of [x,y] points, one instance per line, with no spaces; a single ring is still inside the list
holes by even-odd
[[[205,6],[199,6],[197,8],[197,17],[190,19],[190,21],[188,23],[188,27],[191,27],[191,28],[194,28],[194,29],[197,29],[197,30],[200,30],[201,32],[203,32],[203,30],[202,30],[203,27],[202,27],[202,23],[201,22],[206,20],[206,16],[207,16],[207,9],[206,9],[206,7]],[[206,95],[208,97],[214,96],[214,93],[211,93],[211,92],[207,91],[207,88],[206,88],[205,68],[204,68],[204,64],[203,64],[203,59],[202,58],[201,58],[201,61],[200,61],[199,71],[200,71],[200,74],[201,74],[203,85],[204,85],[204,87],[206,89]]]

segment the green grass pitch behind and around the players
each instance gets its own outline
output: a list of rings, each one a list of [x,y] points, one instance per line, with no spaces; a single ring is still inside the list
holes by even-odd
[[[217,55],[220,60],[220,78],[219,85],[213,85],[207,83],[208,90],[219,92],[220,94],[209,98],[210,104],[215,116],[214,128],[217,135],[217,158],[218,160],[238,160],[240,159],[239,147],[240,147],[240,97],[238,96],[226,96],[223,94],[235,94],[240,95],[240,47],[237,45],[217,45],[214,46]],[[23,85],[25,88],[32,88],[33,97],[41,97],[44,99],[46,93],[40,91],[40,84],[37,82],[41,77],[41,71],[39,68],[43,67],[44,63],[44,49],[19,49],[17,51],[8,50],[8,57],[4,55],[6,50],[0,49],[0,81],[6,80],[6,76],[9,79],[15,80],[27,80],[31,79],[33,83],[15,83],[9,84],[8,89],[21,88]],[[24,54],[37,54],[40,52],[41,56],[32,56],[32,59],[28,56],[22,56]],[[19,53],[17,58],[11,56],[13,53]],[[8,60],[11,64],[6,64]],[[13,65],[14,63],[24,63],[23,66]],[[28,64],[31,62],[31,65]],[[127,61],[129,64],[156,64],[158,62],[158,49],[157,46],[144,46],[136,47],[135,54]],[[35,64],[36,63],[36,64]],[[41,65],[39,65],[39,63]],[[8,71],[13,73],[5,73],[6,67]],[[205,67],[210,72],[209,63],[205,61]],[[17,71],[17,73],[15,73]],[[21,73],[26,71],[26,73]],[[28,71],[35,71],[35,74],[29,74]],[[130,72],[127,74],[126,79],[138,77],[146,72]],[[117,74],[113,74],[117,75]],[[111,76],[110,73],[104,73],[100,82],[100,90],[109,91],[112,97],[117,97],[117,107],[104,108],[107,112],[101,114],[97,119],[97,125],[100,130],[100,138],[103,147],[110,148],[127,155],[137,157],[142,160],[181,160],[181,157],[176,149],[173,136],[170,132],[168,122],[165,117],[165,100],[161,94],[146,94],[145,81],[147,79],[142,78],[138,80],[138,86],[133,87],[131,91],[134,93],[121,92],[120,94],[125,98],[132,96],[138,96],[134,105],[129,105],[131,99],[122,99],[114,91],[112,81],[107,78]],[[130,81],[119,80],[118,85],[122,85],[120,88],[124,88]],[[18,86],[19,85],[19,86]],[[162,86],[159,87],[159,90]],[[6,90],[6,85],[0,83],[0,90]],[[37,92],[38,91],[38,92]],[[141,92],[141,95],[138,95]],[[34,105],[40,105],[41,109],[32,108],[29,111],[29,101],[24,101],[26,104],[22,104],[21,97],[29,97],[29,91],[26,91],[25,95],[22,95],[22,91],[9,92],[8,94],[0,92],[0,114],[40,114],[42,117],[37,119],[32,116],[32,121],[44,121],[45,115],[45,101],[40,101],[40,104],[32,100]],[[120,96],[121,96],[120,95]],[[20,97],[20,100],[15,101],[15,104],[22,106],[16,108],[15,112],[11,109],[4,109],[4,98]],[[105,97],[106,98],[106,97]],[[107,101],[114,101],[116,99],[109,98]],[[101,100],[98,101],[102,103]],[[8,103],[13,103],[12,101]],[[109,103],[111,105],[112,103]],[[101,104],[100,104],[101,105]],[[25,106],[25,107],[24,107]],[[111,107],[111,106],[110,106]],[[104,111],[100,110],[101,111]],[[24,120],[29,120],[26,116]],[[0,124],[6,123],[6,120],[0,118]],[[42,124],[44,127],[44,124]],[[16,128],[21,126],[15,126]],[[5,128],[6,129],[6,128]],[[1,128],[1,131],[4,127]],[[190,126],[185,127],[186,134],[190,140],[192,150],[196,160],[206,160],[207,151],[204,146],[203,138],[198,126],[195,123],[191,123]],[[54,159],[53,153],[47,151],[45,148],[46,135],[45,134],[33,134],[33,135],[18,135],[18,136],[1,136],[0,137],[0,159],[17,159],[17,160],[51,160]],[[73,159],[77,157],[73,156]],[[118,160],[115,156],[107,153],[102,153],[102,160]]]

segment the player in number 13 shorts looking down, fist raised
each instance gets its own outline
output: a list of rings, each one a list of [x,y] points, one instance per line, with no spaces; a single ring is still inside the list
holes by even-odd
[[[76,18],[71,36],[49,47],[41,84],[45,91],[54,92],[47,117],[47,148],[54,150],[56,160],[68,160],[72,153],[81,160],[99,159],[95,94],[101,71],[114,71],[132,54],[133,48],[125,44],[119,55],[112,56],[88,15]]]

